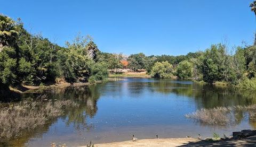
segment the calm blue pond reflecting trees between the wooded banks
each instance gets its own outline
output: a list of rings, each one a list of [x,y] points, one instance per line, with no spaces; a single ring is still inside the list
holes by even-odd
[[[207,126],[185,118],[201,108],[251,105],[256,93],[192,81],[117,77],[115,81],[80,87],[55,88],[22,94],[22,99],[71,99],[80,105],[51,120],[42,128],[25,133],[13,146],[68,146],[139,139],[231,135],[255,129],[256,122],[241,113],[229,126]]]

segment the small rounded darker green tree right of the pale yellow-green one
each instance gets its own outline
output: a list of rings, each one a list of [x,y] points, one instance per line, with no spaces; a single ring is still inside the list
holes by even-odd
[[[183,60],[179,63],[176,69],[177,76],[181,79],[189,78],[192,76],[193,64],[188,62],[188,60]]]

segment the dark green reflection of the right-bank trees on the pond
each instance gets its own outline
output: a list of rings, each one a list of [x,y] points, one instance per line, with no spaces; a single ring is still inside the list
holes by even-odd
[[[175,93],[180,96],[194,98],[197,109],[218,106],[250,105],[256,103],[256,93],[231,87],[201,85],[189,81],[159,80],[149,82],[151,90],[165,94]]]

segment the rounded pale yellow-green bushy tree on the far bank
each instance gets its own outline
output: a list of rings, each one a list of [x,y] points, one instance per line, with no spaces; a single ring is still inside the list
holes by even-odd
[[[173,66],[167,61],[156,62],[151,70],[150,76],[163,79],[170,78],[173,76]]]

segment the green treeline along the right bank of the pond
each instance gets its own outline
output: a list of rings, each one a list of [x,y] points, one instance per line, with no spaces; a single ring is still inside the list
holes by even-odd
[[[237,47],[234,54],[223,44],[212,45],[205,51],[186,56],[146,56],[142,53],[128,57],[133,70],[144,68],[152,77],[191,78],[210,84],[225,82],[255,87],[256,46]],[[249,83],[252,82],[252,83]]]

